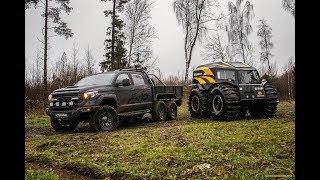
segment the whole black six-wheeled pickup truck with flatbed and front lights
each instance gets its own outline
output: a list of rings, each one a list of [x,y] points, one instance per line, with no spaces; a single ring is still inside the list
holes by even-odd
[[[154,121],[176,119],[182,86],[166,86],[142,69],[122,69],[88,76],[74,86],[53,91],[46,113],[55,131],[73,131],[89,122],[93,131],[111,131],[128,116]]]

